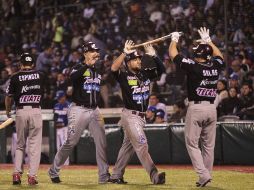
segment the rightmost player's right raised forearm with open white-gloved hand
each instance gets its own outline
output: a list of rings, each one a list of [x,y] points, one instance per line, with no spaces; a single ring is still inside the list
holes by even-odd
[[[200,27],[200,29],[198,30],[198,33],[201,37],[201,40],[197,40],[201,43],[207,43],[209,44],[212,49],[213,49],[213,56],[219,56],[221,58],[223,58],[223,55],[221,53],[221,51],[219,50],[219,48],[212,42],[210,36],[209,36],[209,29],[207,29],[206,27]]]

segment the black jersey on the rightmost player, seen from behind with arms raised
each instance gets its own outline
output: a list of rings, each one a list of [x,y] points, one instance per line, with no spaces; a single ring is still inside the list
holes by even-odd
[[[174,58],[187,74],[187,92],[189,101],[210,101],[216,97],[217,81],[225,63],[221,57],[213,57],[207,63],[197,63],[178,54]]]

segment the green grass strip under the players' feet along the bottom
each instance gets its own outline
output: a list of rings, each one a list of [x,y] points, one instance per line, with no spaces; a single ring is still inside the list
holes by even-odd
[[[172,169],[165,170],[166,184],[153,185],[144,169],[126,169],[124,175],[128,181],[126,185],[117,184],[97,184],[96,169],[63,169],[61,171],[61,184],[52,184],[47,176],[46,169],[40,169],[38,174],[38,186],[28,186],[26,175],[23,175],[21,186],[12,185],[12,170],[0,169],[0,190],[5,189],[36,189],[36,190],[73,190],[73,189],[102,189],[102,190],[146,190],[146,189],[197,189],[195,182],[197,176],[193,170],[187,169]],[[254,174],[241,173],[234,171],[214,171],[213,181],[209,184],[206,190],[245,190],[254,189]]]

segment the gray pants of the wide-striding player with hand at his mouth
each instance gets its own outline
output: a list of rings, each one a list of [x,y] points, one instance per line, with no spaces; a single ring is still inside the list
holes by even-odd
[[[104,121],[99,109],[76,106],[75,103],[68,110],[68,136],[63,146],[56,153],[53,165],[49,170],[51,178],[59,176],[61,166],[65,163],[73,147],[78,143],[83,131],[87,128],[91,132],[95,142],[99,182],[108,180],[109,166],[106,157],[106,135]]]

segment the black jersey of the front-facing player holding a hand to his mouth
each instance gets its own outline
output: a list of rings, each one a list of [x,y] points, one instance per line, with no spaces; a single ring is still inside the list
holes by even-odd
[[[73,83],[72,101],[85,107],[97,107],[100,97],[101,73],[87,65],[77,64],[70,75]]]

